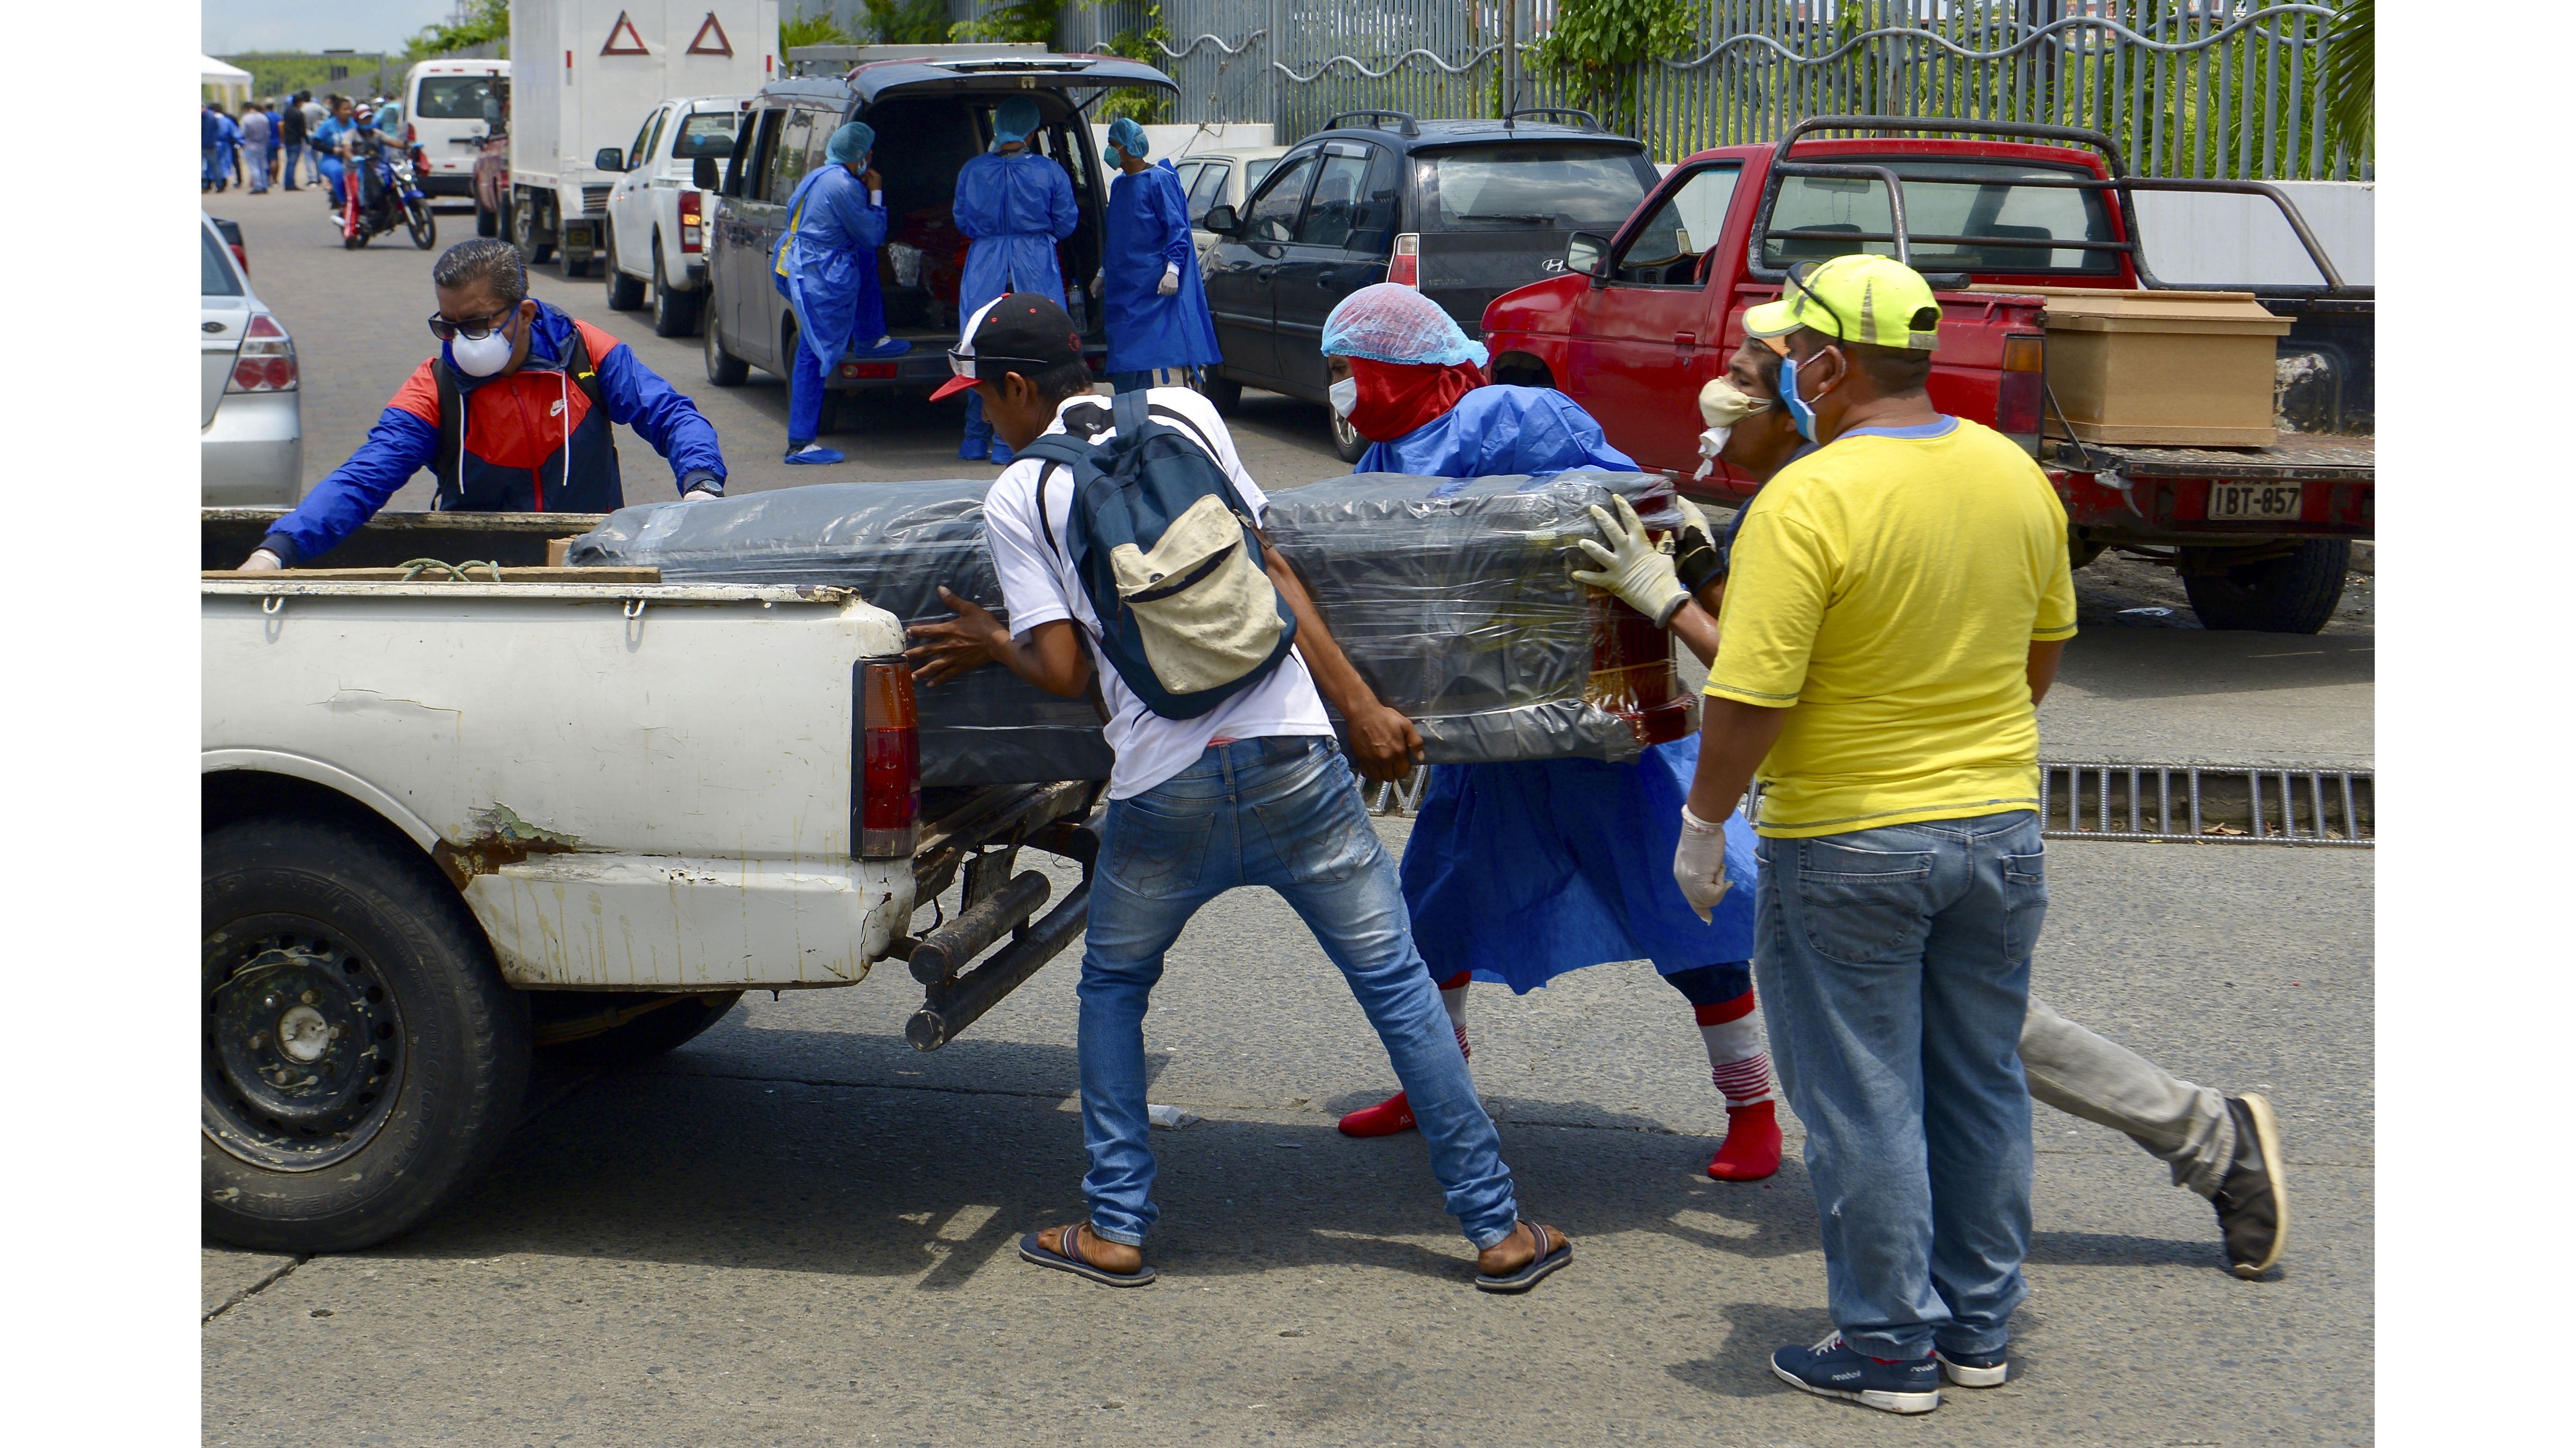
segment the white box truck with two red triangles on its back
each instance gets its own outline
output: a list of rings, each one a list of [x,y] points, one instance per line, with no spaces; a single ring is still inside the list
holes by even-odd
[[[778,0],[510,0],[510,240],[590,276],[603,147],[675,95],[750,95],[778,75]]]

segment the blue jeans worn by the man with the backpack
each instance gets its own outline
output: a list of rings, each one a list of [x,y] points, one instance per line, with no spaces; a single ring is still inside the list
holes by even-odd
[[[1092,1232],[1141,1244],[1159,1216],[1144,1116],[1144,1013],[1162,956],[1200,904],[1262,884],[1306,920],[1396,1067],[1432,1149],[1443,1201],[1476,1250],[1520,1206],[1494,1118],[1476,1100],[1440,992],[1422,971],[1396,861],[1378,843],[1332,739],[1211,745],[1190,768],[1110,801],[1082,948],[1082,1193]]]

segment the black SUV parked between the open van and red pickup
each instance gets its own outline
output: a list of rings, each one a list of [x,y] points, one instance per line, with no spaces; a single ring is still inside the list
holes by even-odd
[[[1208,312],[1226,358],[1208,392],[1226,410],[1247,384],[1324,402],[1324,317],[1376,281],[1419,286],[1476,338],[1486,301],[1564,271],[1566,237],[1615,232],[1654,183],[1643,142],[1602,131],[1589,111],[1345,111],[1283,155],[1242,211],[1200,222],[1216,234]],[[1337,415],[1332,441],[1342,461],[1368,451]]]

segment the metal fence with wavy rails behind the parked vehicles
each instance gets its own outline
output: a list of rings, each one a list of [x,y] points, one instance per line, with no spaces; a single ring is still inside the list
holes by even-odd
[[[1690,54],[1579,75],[1543,62],[1558,0],[1103,0],[1061,44],[1149,36],[1177,121],[1587,106],[1656,160],[1767,142],[1803,116],[1958,116],[2110,131],[2141,175],[2367,180],[2324,126],[2336,10],[2303,0],[1705,0]],[[1278,44],[1273,49],[1273,36]]]

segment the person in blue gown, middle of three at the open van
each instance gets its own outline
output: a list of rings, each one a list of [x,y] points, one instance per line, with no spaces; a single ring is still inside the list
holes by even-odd
[[[1012,95],[992,111],[992,149],[958,170],[956,222],[966,232],[966,273],[958,278],[958,314],[974,317],[1005,291],[1038,291],[1064,307],[1056,242],[1074,234],[1082,211],[1064,167],[1036,152],[1038,103]],[[1010,443],[984,423],[984,399],[966,394],[961,459],[1010,464]]]

